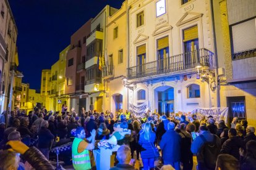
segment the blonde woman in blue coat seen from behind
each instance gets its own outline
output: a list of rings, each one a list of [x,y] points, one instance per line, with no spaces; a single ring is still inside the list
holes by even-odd
[[[154,168],[154,161],[156,157],[155,145],[156,134],[151,129],[150,123],[145,123],[143,131],[140,134],[139,144],[142,146],[142,152],[140,153],[143,169],[148,170]]]

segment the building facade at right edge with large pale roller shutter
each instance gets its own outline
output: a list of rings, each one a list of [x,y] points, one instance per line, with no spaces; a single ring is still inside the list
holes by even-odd
[[[256,126],[256,1],[215,1],[220,101],[236,116]]]

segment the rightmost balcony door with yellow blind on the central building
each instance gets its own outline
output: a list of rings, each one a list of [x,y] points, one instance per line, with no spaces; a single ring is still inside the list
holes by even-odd
[[[184,67],[193,68],[195,63],[200,62],[198,59],[198,28],[193,26],[183,31],[184,43]]]

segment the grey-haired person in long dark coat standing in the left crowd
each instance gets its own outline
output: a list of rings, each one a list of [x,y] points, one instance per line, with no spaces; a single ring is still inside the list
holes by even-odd
[[[44,120],[41,123],[40,130],[38,132],[38,148],[49,160],[49,150],[54,139],[54,135],[48,129],[49,123]]]

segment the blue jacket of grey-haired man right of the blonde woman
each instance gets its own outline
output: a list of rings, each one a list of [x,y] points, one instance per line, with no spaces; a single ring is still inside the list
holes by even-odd
[[[173,129],[166,131],[161,139],[163,160],[166,163],[181,161],[181,136]]]

